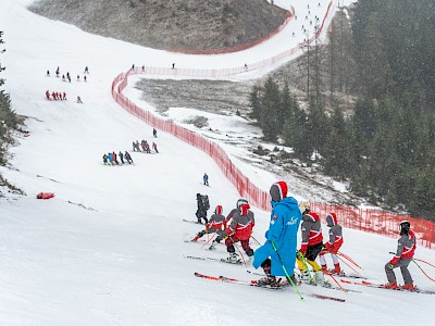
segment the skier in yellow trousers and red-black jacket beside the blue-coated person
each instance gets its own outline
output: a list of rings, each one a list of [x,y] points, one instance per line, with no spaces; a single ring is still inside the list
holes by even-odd
[[[322,268],[315,262],[318,254],[323,249],[320,216],[310,211],[310,205],[308,203],[300,204],[299,210],[302,213],[302,224],[300,227],[302,231],[302,243],[297,252],[296,262],[301,272],[300,279],[301,281],[311,283],[310,272],[303,262],[303,260],[306,260],[307,263],[313,267],[315,274],[313,281],[325,285]]]

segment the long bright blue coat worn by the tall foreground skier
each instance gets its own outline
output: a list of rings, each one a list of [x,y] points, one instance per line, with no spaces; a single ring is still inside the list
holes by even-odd
[[[273,276],[286,276],[282,264],[284,264],[289,276],[294,274],[296,261],[296,246],[299,224],[302,214],[298,208],[298,201],[293,197],[286,197],[281,201],[271,201],[271,223],[265,233],[266,241],[256,250],[252,266],[258,268],[261,263],[271,258]],[[272,241],[279,254],[273,249]]]

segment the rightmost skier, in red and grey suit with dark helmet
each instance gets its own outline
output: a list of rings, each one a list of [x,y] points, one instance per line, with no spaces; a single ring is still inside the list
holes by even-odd
[[[385,285],[387,289],[398,289],[399,286],[396,281],[394,268],[400,267],[405,285],[401,286],[403,290],[414,291],[415,287],[411,274],[408,271],[408,265],[412,261],[415,251],[415,235],[410,229],[411,224],[408,221],[402,221],[399,224],[400,239],[397,241],[397,251],[395,256],[385,265],[385,273],[388,283]]]

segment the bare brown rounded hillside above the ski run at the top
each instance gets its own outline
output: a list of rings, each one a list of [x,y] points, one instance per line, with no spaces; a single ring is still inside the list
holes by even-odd
[[[285,10],[263,0],[41,0],[29,10],[92,34],[164,50],[244,45],[286,18]]]

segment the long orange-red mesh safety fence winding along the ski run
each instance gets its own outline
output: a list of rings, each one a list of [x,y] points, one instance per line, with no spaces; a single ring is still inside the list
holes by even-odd
[[[330,2],[327,13],[332,1]],[[316,36],[320,35],[324,27],[325,17],[323,18],[321,27],[318,29]],[[310,39],[309,41],[312,41]],[[257,62],[249,66],[249,70],[261,68],[266,65],[273,64],[282,59],[296,53],[299,48],[289,49],[286,52],[277,54],[271,59]],[[115,77],[112,83],[112,97],[113,99],[126,111],[136,117],[148,123],[157,129],[172,134],[178,139],[202,150],[208,153],[217,166],[222,170],[228,180],[236,187],[240,196],[249,200],[249,202],[264,211],[271,210],[269,192],[259,189],[252,184],[247,176],[245,176],[237,166],[229,160],[225,151],[216,143],[207,139],[206,137],[188,130],[173,122],[165,121],[153,115],[149,111],[145,111],[129,101],[122,91],[127,86],[127,78],[134,74],[148,74],[148,75],[183,75],[187,77],[224,77],[236,75],[246,72],[246,67],[233,67],[223,70],[194,70],[194,68],[165,68],[165,67],[136,67],[129,70],[127,73],[121,73]],[[339,223],[344,227],[363,230],[368,233],[380,234],[388,237],[398,236],[398,224],[402,220],[408,220],[415,231],[419,243],[430,249],[435,248],[435,224],[430,221],[412,218],[409,216],[395,215],[383,211],[369,210],[369,209],[353,209],[326,203],[311,203],[312,210],[325,217],[328,213],[335,212]]]

